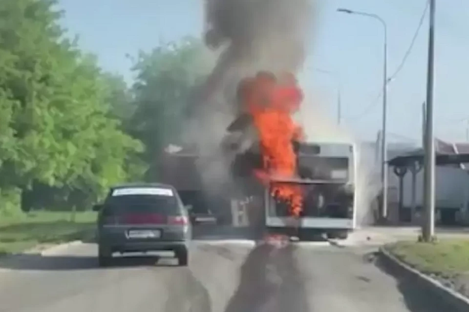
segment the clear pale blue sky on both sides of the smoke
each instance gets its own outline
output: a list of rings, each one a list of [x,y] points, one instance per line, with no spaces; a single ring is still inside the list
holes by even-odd
[[[285,0],[287,1],[287,0]],[[294,1],[294,0],[288,0]],[[320,93],[336,113],[336,78],[341,81],[344,124],[363,139],[374,139],[382,122],[383,28],[370,18],[337,13],[339,7],[379,15],[388,30],[388,74],[401,63],[417,29],[426,0],[318,0],[311,50],[303,84]],[[131,80],[126,54],[150,50],[160,39],[200,36],[199,0],[60,0],[63,24],[80,36],[85,51],[106,70]],[[435,135],[466,140],[469,92],[469,1],[437,0],[435,50]],[[428,14],[405,66],[388,87],[388,131],[394,141],[419,141],[426,96]],[[374,105],[373,102],[375,102]],[[466,118],[466,119],[465,119]]]

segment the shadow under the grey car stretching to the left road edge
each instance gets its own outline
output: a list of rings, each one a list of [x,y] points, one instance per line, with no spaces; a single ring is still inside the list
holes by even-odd
[[[163,260],[164,259],[164,260]],[[162,261],[163,260],[163,261]],[[171,262],[171,263],[169,263]],[[160,256],[125,256],[114,257],[105,269],[123,267],[176,267],[177,260]],[[96,270],[96,256],[21,254],[0,260],[0,268],[9,270]]]

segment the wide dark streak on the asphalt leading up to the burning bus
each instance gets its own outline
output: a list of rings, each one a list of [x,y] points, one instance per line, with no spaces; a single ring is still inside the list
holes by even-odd
[[[225,312],[310,312],[295,260],[296,247],[259,245],[241,267],[240,282]]]

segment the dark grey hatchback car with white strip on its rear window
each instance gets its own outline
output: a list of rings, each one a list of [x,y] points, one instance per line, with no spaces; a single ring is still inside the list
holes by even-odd
[[[112,187],[98,214],[98,259],[107,266],[113,253],[173,251],[179,266],[188,265],[192,229],[188,211],[171,185],[130,184]]]

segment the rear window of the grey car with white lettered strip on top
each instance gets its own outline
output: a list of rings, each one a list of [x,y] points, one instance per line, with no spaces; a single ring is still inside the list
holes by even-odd
[[[169,188],[115,189],[107,197],[105,206],[105,215],[182,213],[176,194]]]

